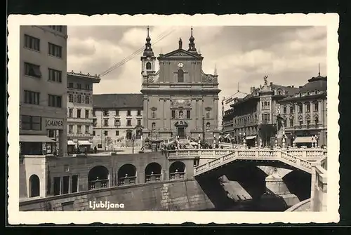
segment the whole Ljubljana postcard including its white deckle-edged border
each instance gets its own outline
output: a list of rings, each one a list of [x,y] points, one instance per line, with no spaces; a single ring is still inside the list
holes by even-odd
[[[337,222],[333,16],[10,16],[9,221]]]

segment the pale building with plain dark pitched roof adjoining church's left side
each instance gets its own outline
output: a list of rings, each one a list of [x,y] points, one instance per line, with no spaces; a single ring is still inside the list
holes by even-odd
[[[143,94],[93,95],[94,147],[140,146],[142,133]]]

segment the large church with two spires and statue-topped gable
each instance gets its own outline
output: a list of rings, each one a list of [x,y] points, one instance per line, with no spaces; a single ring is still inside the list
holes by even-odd
[[[194,36],[189,48],[160,54],[152,51],[149,29],[141,57],[143,93],[143,137],[152,141],[192,138],[218,140],[218,75],[205,74],[204,58],[197,52]],[[156,62],[159,69],[156,71]]]

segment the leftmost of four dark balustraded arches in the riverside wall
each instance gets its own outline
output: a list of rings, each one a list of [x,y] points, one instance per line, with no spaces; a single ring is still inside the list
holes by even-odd
[[[88,173],[88,189],[105,188],[109,186],[109,170],[105,166],[94,166]]]

